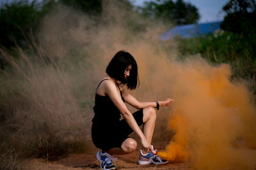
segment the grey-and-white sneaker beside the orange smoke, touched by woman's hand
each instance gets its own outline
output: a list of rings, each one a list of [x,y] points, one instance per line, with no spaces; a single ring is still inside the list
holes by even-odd
[[[156,150],[154,150],[156,153]],[[157,153],[151,153],[148,152],[147,154],[143,154],[142,150],[140,150],[140,159],[139,164],[140,165],[146,165],[146,164],[166,164],[168,163],[168,160],[164,160],[161,157],[157,156]]]

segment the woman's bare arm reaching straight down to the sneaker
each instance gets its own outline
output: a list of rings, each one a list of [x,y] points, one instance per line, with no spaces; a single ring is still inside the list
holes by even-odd
[[[102,83],[104,85],[104,91],[106,95],[109,96],[111,101],[115,104],[115,106],[120,111],[122,117],[124,117],[125,122],[131,127],[132,131],[134,131],[141,139],[141,145],[145,150],[150,150],[151,145],[148,143],[147,139],[145,138],[143,132],[141,131],[140,127],[138,126],[136,120],[132,116],[131,112],[127,109],[126,105],[122,101],[120,93],[117,90],[117,87],[113,81],[105,81]]]

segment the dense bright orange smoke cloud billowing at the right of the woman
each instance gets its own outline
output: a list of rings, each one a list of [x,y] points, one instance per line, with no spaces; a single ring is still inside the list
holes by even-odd
[[[179,90],[169,128],[176,133],[161,157],[198,169],[252,169],[256,162],[256,109],[244,83],[232,83],[230,67],[174,66]]]

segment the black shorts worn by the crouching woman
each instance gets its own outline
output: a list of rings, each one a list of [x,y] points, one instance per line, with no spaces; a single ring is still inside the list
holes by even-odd
[[[132,114],[137,124],[143,124],[143,110],[138,110]],[[125,122],[120,120],[114,126],[100,126],[93,123],[92,125],[92,141],[93,144],[102,150],[109,150],[110,148],[121,148],[125,139],[130,138],[128,135],[133,131],[131,127]]]

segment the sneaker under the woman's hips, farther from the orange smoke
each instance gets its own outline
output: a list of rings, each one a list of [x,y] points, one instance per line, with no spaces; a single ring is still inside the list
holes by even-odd
[[[112,155],[108,153],[102,153],[100,150],[97,152],[97,159],[100,161],[101,169],[116,169],[116,166],[112,164],[112,161],[116,161],[117,159],[113,158]]]

